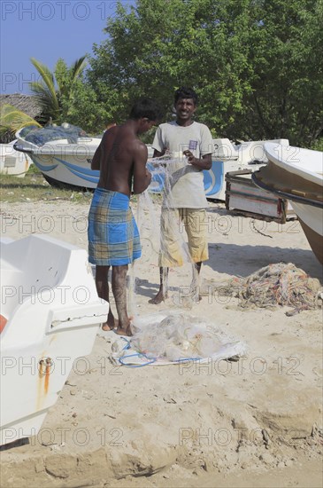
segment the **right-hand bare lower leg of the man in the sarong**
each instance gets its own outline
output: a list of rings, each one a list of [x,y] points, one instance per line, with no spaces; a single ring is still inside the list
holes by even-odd
[[[127,264],[112,266],[112,292],[118,312],[119,335],[131,335],[130,319],[127,316]]]

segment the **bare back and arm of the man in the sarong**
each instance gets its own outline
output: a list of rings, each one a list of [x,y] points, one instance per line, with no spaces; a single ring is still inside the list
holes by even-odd
[[[150,184],[148,150],[137,138],[138,133],[131,120],[104,133],[91,164],[92,169],[100,169],[98,187],[130,196],[133,177],[135,193],[142,193]]]

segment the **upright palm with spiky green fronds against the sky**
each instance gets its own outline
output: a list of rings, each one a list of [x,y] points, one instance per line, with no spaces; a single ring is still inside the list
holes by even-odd
[[[71,67],[67,67],[63,59],[58,59],[53,72],[41,61],[35,58],[30,60],[41,76],[40,81],[29,83],[29,87],[42,106],[43,122],[50,118],[53,122],[64,122],[73,100],[75,83],[87,65],[86,56],[77,59]]]

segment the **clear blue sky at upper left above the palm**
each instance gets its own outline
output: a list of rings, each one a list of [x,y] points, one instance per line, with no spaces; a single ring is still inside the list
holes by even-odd
[[[1,93],[30,93],[28,82],[38,79],[30,58],[53,69],[59,58],[70,65],[92,54],[93,44],[107,37],[103,29],[116,4],[115,0],[2,0]]]

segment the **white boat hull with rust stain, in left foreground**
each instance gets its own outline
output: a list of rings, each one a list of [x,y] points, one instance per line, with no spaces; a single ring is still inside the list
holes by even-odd
[[[108,303],[84,249],[48,236],[1,241],[0,444],[34,436],[72,368],[84,371]]]

